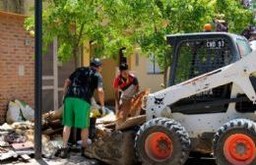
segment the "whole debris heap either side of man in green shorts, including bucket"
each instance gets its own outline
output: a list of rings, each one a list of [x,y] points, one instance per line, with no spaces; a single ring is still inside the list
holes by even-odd
[[[121,112],[115,115],[106,108],[102,116],[96,101],[92,101],[90,140],[85,151],[90,158],[107,164],[129,165],[136,163],[134,138],[140,125],[146,122],[142,110],[143,97],[149,90],[141,91],[124,102]],[[61,125],[63,107],[42,114],[42,156],[54,158],[62,147]],[[21,157],[25,161],[34,153],[33,109],[26,103],[10,101],[7,123],[0,126],[0,161]],[[92,125],[93,124],[93,125]],[[79,143],[81,141],[77,141]]]

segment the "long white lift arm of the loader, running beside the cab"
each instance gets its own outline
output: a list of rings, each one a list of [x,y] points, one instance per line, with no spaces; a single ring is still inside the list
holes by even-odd
[[[189,81],[169,86],[146,97],[147,118],[160,117],[162,109],[182,98],[227,84],[235,83],[256,103],[256,93],[249,77],[256,74],[256,51],[235,63]]]

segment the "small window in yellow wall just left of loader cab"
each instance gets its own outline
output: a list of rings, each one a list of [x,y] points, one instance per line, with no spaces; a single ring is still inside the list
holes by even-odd
[[[155,57],[154,53],[150,53],[149,58],[147,60],[147,73],[148,74],[162,74],[160,70],[160,66]]]

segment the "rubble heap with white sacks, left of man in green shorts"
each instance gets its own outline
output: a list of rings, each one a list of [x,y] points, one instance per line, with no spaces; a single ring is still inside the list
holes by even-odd
[[[60,110],[57,110],[60,111]],[[0,161],[21,157],[28,161],[34,153],[34,111],[32,107],[23,101],[16,99],[8,104],[6,114],[7,123],[0,126]],[[54,121],[42,121],[42,154],[44,157],[52,158],[62,145],[62,137],[57,131],[57,127],[62,127],[61,123]],[[58,126],[57,126],[58,125]],[[52,126],[55,126],[52,127]]]

